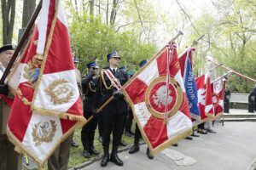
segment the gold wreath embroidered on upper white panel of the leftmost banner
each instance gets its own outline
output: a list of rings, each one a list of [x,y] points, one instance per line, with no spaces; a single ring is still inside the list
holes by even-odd
[[[60,78],[49,83],[49,86],[44,88],[45,94],[50,96],[50,101],[53,102],[54,105],[67,103],[74,95],[73,90],[68,88],[67,83],[67,80]]]

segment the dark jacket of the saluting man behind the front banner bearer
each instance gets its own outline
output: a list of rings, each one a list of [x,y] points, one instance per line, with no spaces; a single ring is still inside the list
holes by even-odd
[[[98,78],[93,78],[94,74],[89,73],[82,79],[82,89],[84,94],[84,111],[93,111],[93,99],[96,93],[96,83]]]

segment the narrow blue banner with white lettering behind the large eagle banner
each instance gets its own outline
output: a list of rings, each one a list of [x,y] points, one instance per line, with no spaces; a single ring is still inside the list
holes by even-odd
[[[194,52],[195,48],[186,49],[185,52],[179,56],[178,61],[189,103],[189,111],[193,125],[195,126],[201,122],[201,115],[198,107],[197,89],[192,69],[192,57]]]

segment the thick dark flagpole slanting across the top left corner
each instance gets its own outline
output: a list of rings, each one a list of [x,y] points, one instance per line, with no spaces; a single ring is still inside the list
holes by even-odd
[[[32,27],[34,26],[35,20],[38,18],[38,14],[42,8],[42,0],[38,3],[38,7],[36,8],[35,12],[32,15],[32,18],[29,20],[26,30],[22,34],[22,37],[20,38],[20,42],[17,45],[17,48],[15,49],[15,53],[13,54],[12,58],[9,61],[9,65],[7,65],[5,71],[3,72],[3,76],[1,77],[0,80],[0,85],[2,85],[6,79],[6,77],[9,74],[9,71],[11,70],[12,66],[15,63],[15,60],[18,57],[18,54],[20,53],[21,48],[23,47],[23,44],[26,42],[26,38],[29,36],[30,31]]]

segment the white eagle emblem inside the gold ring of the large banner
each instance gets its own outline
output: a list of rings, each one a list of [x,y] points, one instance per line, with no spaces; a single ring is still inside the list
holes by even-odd
[[[167,98],[167,105],[172,103],[172,91],[169,90],[168,98]],[[161,108],[161,105],[166,105],[166,86],[161,86],[157,89],[156,93],[153,95],[154,104]]]

